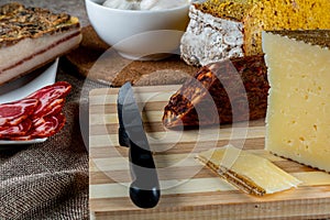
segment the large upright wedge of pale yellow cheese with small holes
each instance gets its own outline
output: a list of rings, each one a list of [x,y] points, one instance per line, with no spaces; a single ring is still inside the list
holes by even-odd
[[[330,172],[330,30],[263,33],[271,85],[265,148]]]

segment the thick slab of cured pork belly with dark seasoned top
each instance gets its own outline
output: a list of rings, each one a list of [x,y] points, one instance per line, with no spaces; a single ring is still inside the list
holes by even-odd
[[[0,7],[0,85],[44,66],[77,47],[79,20],[20,3]]]

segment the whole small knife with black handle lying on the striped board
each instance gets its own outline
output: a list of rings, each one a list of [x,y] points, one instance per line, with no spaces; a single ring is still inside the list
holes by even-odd
[[[161,197],[160,182],[130,82],[119,90],[117,100],[119,143],[129,147],[130,198],[140,208],[153,208]]]

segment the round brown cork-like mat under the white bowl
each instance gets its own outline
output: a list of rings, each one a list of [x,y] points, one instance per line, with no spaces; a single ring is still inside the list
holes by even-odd
[[[80,75],[91,80],[120,87],[125,81],[134,86],[183,84],[197,67],[188,66],[179,55],[157,62],[129,61],[110,48],[91,25],[81,29],[80,46],[65,57]]]

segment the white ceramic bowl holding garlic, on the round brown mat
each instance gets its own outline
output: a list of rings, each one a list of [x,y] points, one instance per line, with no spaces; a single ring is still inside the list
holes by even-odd
[[[177,53],[189,22],[189,3],[139,11],[107,8],[101,6],[105,0],[85,1],[89,21],[100,38],[130,59],[161,59]]]

